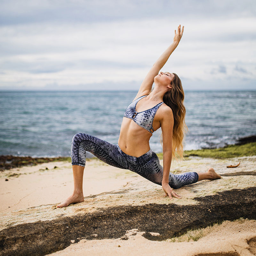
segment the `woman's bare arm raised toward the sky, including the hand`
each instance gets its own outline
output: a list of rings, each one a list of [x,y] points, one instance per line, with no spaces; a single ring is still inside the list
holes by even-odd
[[[135,99],[139,98],[142,95],[148,95],[151,92],[152,85],[154,83],[154,77],[158,75],[160,69],[163,68],[164,64],[166,63],[166,61],[169,59],[172,52],[175,50],[175,48],[179,44],[181,36],[183,34],[183,30],[184,30],[184,26],[180,31],[180,25],[178,27],[177,33],[175,29],[175,35],[174,35],[172,44],[162,53],[162,55],[154,63],[153,67],[149,70],[147,76],[144,78],[142,84],[140,85],[139,92],[137,93]]]

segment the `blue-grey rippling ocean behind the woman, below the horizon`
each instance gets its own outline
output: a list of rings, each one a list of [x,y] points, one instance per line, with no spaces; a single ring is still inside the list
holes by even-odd
[[[116,144],[137,91],[0,92],[0,155],[70,156],[78,132]],[[256,91],[185,91],[185,149],[219,148],[256,134]],[[161,129],[150,147],[162,152]]]

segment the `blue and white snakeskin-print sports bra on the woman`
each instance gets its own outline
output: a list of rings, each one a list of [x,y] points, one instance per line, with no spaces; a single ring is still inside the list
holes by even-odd
[[[156,115],[156,111],[164,102],[158,103],[153,108],[149,108],[147,110],[137,112],[135,110],[136,105],[138,101],[144,97],[147,97],[147,95],[141,96],[137,100],[132,101],[132,103],[126,108],[124,112],[124,117],[128,117],[132,119],[136,124],[140,125],[142,128],[146,129],[148,132],[152,134],[153,132],[155,132],[153,129],[153,120]],[[151,132],[151,130],[153,132]]]

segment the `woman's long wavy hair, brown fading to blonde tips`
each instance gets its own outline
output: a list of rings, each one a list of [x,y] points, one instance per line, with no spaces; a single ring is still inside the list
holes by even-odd
[[[186,108],[183,105],[184,91],[179,76],[172,73],[174,78],[172,80],[172,89],[165,92],[163,101],[172,109],[174,124],[172,130],[172,156],[176,160],[184,160],[183,157],[183,139],[188,127],[185,124]],[[160,142],[163,147],[163,133],[161,133]]]

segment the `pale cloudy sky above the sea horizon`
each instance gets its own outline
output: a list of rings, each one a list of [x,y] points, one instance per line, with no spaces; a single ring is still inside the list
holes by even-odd
[[[0,90],[137,90],[179,24],[162,71],[256,89],[255,0],[0,0]]]

